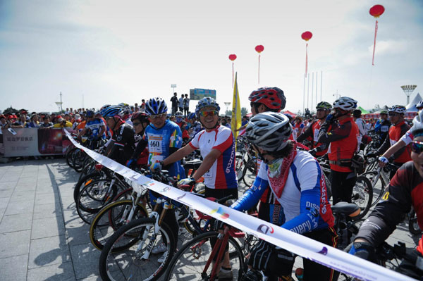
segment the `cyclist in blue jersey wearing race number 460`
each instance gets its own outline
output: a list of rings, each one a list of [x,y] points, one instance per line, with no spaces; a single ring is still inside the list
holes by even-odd
[[[145,113],[149,115],[151,123],[145,129],[142,139],[147,142],[149,151],[148,165],[153,168],[180,149],[182,145],[182,132],[176,123],[166,120],[167,106],[163,99],[159,97],[149,99],[145,104]],[[164,169],[168,170],[169,175],[178,179],[185,177],[185,170],[180,165],[180,161],[169,163],[164,166]],[[160,194],[150,191],[149,197],[152,205],[156,204],[156,199],[159,196]],[[166,211],[164,221],[171,227],[173,239],[177,244],[179,225],[173,209]],[[168,254],[166,253],[166,246],[164,244],[155,246],[152,249],[152,253],[164,253],[159,258],[159,262],[164,261],[166,254]]]

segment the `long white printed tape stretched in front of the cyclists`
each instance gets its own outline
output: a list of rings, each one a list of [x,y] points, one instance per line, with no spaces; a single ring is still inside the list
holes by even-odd
[[[123,177],[133,180],[139,185],[145,185],[145,187],[152,189],[154,192],[158,192],[170,199],[174,199],[184,205],[195,208],[202,213],[207,213],[209,216],[223,220],[228,225],[232,225],[243,232],[255,235],[267,242],[270,242],[271,244],[280,246],[283,249],[292,251],[299,256],[321,263],[324,266],[328,266],[348,275],[353,275],[360,278],[360,280],[414,280],[400,273],[396,273],[393,270],[365,261],[362,258],[357,258],[356,256],[350,255],[321,242],[298,235],[295,232],[267,223],[259,218],[249,216],[246,213],[235,211],[232,208],[201,198],[191,194],[190,192],[184,192],[175,187],[165,185],[162,182],[152,180],[144,175],[140,175],[139,173],[130,170],[129,168],[126,168],[116,161],[81,146],[75,142],[68,132],[66,132],[66,135],[68,135],[68,138],[71,139],[75,146],[83,149],[90,157],[94,158],[95,161],[111,170],[114,170],[114,172],[123,175]]]

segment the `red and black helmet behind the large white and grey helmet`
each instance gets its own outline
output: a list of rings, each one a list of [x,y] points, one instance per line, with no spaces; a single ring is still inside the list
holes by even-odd
[[[283,91],[277,87],[264,87],[252,91],[248,99],[252,103],[264,104],[267,108],[279,111],[285,108],[286,98]]]

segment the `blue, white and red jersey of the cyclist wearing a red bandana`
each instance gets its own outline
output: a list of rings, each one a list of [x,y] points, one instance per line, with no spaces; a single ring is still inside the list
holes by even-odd
[[[332,227],[332,210],[321,173],[317,160],[308,152],[298,150],[290,165],[286,185],[278,197],[270,186],[268,166],[262,163],[252,187],[231,207],[238,211],[249,210],[257,204],[264,191],[270,188],[280,204],[271,204],[271,210],[278,207],[279,218],[276,218],[276,224],[300,234]],[[274,214],[271,216],[275,216]]]

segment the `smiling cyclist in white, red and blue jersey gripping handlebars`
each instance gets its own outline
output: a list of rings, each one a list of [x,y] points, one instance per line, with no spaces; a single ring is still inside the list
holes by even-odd
[[[161,163],[156,163],[153,169],[161,169],[161,166],[179,161],[192,151],[200,149],[204,159],[200,167],[192,177],[180,180],[178,186],[194,185],[200,177],[203,177],[206,198],[221,199],[232,195],[232,198],[236,199],[238,198],[238,180],[235,173],[235,139],[231,129],[219,125],[219,110],[219,104],[214,99],[210,97],[201,99],[195,108],[195,113],[200,118],[204,130],[195,135],[182,149],[165,158]],[[232,276],[229,254],[226,252],[218,277],[222,280]]]

